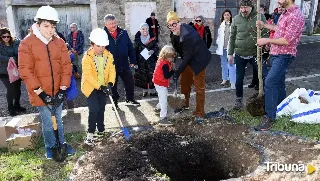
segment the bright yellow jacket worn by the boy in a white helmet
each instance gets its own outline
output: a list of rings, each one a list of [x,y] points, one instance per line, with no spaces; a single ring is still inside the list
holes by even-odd
[[[106,57],[104,63],[104,81],[106,85],[109,82],[115,83],[116,81],[116,69],[113,62],[112,54],[104,50],[103,56]],[[95,54],[92,48],[85,52],[82,59],[82,80],[81,80],[81,91],[89,97],[94,89],[99,89],[101,84],[98,82],[98,67],[94,60]]]

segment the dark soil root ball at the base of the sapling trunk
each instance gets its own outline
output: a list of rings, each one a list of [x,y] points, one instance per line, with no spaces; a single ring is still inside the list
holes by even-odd
[[[265,115],[264,111],[264,96],[259,96],[258,93],[247,99],[246,103],[247,111],[251,116],[263,116]]]

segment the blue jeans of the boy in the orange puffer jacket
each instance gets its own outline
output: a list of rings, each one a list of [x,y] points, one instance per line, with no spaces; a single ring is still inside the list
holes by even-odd
[[[65,142],[62,116],[61,116],[62,105],[63,104],[57,107],[55,112],[57,127],[58,127],[59,142],[61,144]],[[51,112],[47,108],[47,106],[39,106],[37,108],[39,110],[41,122],[42,122],[42,134],[44,138],[44,145],[46,148],[52,148],[56,144],[56,137],[53,131]],[[52,109],[52,106],[49,105],[49,108]]]

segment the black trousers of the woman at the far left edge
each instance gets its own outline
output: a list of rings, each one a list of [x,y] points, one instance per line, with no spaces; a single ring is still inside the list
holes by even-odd
[[[8,108],[13,108],[13,104],[18,106],[20,105],[21,97],[21,79],[10,83],[8,75],[1,76],[1,81],[7,89],[7,103]]]

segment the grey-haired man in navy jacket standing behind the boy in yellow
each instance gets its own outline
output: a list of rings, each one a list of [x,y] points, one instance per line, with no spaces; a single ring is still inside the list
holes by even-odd
[[[140,106],[140,103],[134,100],[134,80],[130,67],[137,64],[132,42],[126,30],[117,25],[116,17],[113,14],[107,14],[104,17],[105,27],[109,37],[109,45],[106,47],[113,55],[116,67],[116,82],[112,87],[112,97],[118,108],[119,93],[117,91],[118,76],[120,76],[126,90],[126,105]],[[130,59],[130,64],[128,61]]]

